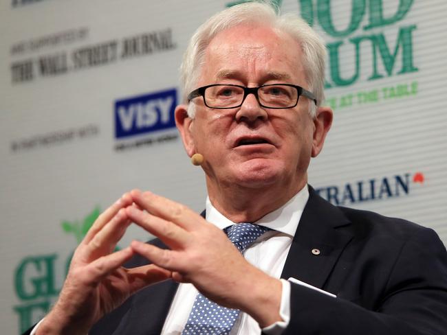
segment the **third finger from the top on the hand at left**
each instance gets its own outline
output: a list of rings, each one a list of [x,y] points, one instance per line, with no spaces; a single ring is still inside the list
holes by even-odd
[[[96,259],[87,265],[83,271],[85,271],[85,274],[91,276],[88,281],[98,283],[113,270],[116,270],[131,259],[132,255],[133,249],[129,246],[126,249],[116,251],[116,253],[111,253],[110,255]]]

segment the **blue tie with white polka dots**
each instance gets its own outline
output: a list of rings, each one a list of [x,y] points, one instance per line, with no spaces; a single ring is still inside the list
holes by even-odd
[[[270,228],[258,226],[257,224],[238,223],[233,224],[224,231],[230,241],[242,253],[259,236],[269,230]],[[221,307],[217,303],[208,300],[201,293],[198,293],[182,335],[230,334],[238,315],[239,310]]]

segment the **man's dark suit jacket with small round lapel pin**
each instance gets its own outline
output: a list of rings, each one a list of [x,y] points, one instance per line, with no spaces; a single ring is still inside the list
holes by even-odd
[[[284,334],[447,334],[447,253],[436,233],[404,220],[334,207],[309,191],[281,277],[300,279],[337,298],[292,284],[291,320]],[[153,243],[162,246],[159,240]],[[146,263],[136,257],[132,265]],[[176,290],[173,281],[145,288],[89,334],[160,334]]]

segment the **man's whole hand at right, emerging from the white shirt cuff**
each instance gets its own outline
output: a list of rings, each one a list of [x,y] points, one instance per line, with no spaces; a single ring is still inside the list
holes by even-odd
[[[208,299],[250,314],[261,327],[281,321],[281,281],[249,264],[223,231],[184,205],[138,190],[127,216],[170,250],[134,241],[132,249],[192,283]],[[143,209],[145,211],[143,211]]]

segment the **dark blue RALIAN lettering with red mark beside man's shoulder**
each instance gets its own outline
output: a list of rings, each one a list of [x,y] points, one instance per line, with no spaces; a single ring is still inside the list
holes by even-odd
[[[391,177],[371,178],[367,181],[356,181],[354,183],[346,183],[345,185],[318,187],[316,192],[334,205],[344,206],[353,203],[408,196],[413,185],[422,185],[424,181],[425,177],[422,172],[416,172],[415,174],[406,173]]]

